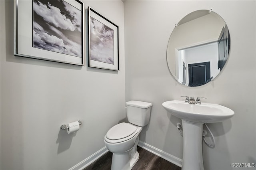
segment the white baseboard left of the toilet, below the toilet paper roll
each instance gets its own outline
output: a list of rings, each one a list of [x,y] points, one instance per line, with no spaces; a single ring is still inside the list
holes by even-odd
[[[78,164],[76,164],[75,166],[70,168],[69,170],[82,170],[82,169],[86,168],[87,166],[89,166],[90,164],[92,164],[92,162],[96,161],[98,158],[100,158],[101,156],[106,154],[107,152],[108,152],[108,149],[105,146],[104,148],[98,150],[97,152],[95,152],[94,154],[92,154],[91,156],[86,158],[85,160],[82,160],[81,162],[79,162]]]

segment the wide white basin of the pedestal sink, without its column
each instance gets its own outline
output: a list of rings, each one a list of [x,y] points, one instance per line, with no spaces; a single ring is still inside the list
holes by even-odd
[[[166,101],[164,109],[172,115],[195,123],[217,123],[229,119],[234,115],[231,109],[211,103],[189,104],[184,101]]]

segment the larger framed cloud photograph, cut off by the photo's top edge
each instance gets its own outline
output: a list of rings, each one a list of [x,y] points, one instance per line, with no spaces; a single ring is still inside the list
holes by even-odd
[[[84,65],[84,4],[16,0],[14,55]]]

